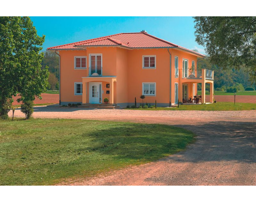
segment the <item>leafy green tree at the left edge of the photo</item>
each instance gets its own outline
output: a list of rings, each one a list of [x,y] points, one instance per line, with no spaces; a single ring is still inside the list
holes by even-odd
[[[21,94],[17,101],[34,101],[46,91],[48,69],[41,69],[44,36],[27,16],[0,16],[0,116],[6,116],[7,103]],[[9,109],[10,111],[10,109]]]

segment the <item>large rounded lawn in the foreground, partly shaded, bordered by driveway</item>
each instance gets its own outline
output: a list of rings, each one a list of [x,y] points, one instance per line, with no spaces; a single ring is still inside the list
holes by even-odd
[[[134,123],[0,120],[0,185],[52,185],[185,149],[194,134],[182,128]]]

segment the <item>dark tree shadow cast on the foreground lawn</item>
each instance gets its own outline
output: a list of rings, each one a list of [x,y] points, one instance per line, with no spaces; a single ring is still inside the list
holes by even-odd
[[[143,163],[185,149],[188,143],[193,142],[194,135],[173,126],[126,123],[107,130],[96,128],[89,138],[91,144],[81,144],[79,151],[97,152],[114,161]]]

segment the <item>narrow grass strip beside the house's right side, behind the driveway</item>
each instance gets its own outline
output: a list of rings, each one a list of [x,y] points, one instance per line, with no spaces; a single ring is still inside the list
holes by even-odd
[[[180,105],[179,108],[136,108],[136,109],[126,109],[126,110],[146,110],[146,111],[245,111],[245,110],[256,110],[256,104],[252,103],[236,103],[233,102],[217,102],[214,104],[200,104],[200,105]]]

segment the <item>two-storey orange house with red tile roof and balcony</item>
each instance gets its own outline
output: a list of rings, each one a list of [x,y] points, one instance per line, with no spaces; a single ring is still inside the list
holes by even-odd
[[[60,104],[110,104],[126,107],[145,101],[158,106],[188,101],[202,84],[210,83],[213,102],[213,71],[197,71],[204,55],[154,37],[146,31],[121,33],[48,48],[60,57]]]

